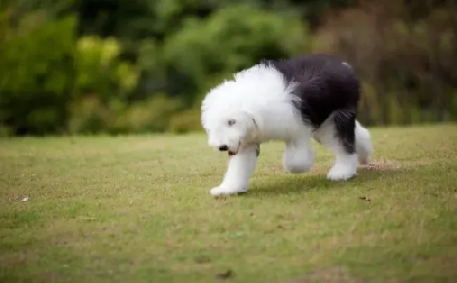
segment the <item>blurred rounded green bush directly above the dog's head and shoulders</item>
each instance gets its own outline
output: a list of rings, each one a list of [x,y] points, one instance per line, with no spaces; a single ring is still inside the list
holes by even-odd
[[[262,58],[297,55],[310,44],[305,25],[295,15],[231,6],[204,20],[187,18],[165,39],[169,93],[179,94],[190,106],[215,77],[226,77]]]

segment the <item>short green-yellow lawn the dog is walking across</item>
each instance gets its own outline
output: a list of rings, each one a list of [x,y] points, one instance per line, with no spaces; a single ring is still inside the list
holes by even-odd
[[[352,180],[269,143],[225,199],[204,136],[2,139],[0,282],[456,282],[457,127],[371,133]]]

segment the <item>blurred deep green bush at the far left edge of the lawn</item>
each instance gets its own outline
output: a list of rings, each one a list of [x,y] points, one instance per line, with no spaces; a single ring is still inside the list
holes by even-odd
[[[11,15],[1,16],[0,124],[15,134],[56,132],[74,85],[75,18],[36,11],[12,25]]]

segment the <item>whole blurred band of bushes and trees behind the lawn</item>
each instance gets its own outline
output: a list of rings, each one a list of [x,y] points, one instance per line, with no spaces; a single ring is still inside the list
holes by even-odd
[[[0,134],[200,129],[200,100],[262,58],[333,53],[368,126],[457,119],[453,0],[1,0]]]

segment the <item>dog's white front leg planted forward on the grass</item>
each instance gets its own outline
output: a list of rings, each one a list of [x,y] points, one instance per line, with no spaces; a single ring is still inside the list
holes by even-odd
[[[210,194],[233,195],[238,192],[247,192],[247,185],[255,171],[259,145],[246,145],[238,150],[238,154],[230,157],[224,180],[218,187],[213,187]]]

